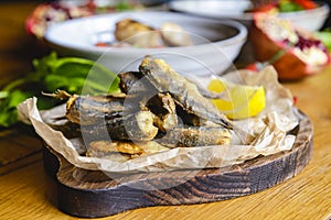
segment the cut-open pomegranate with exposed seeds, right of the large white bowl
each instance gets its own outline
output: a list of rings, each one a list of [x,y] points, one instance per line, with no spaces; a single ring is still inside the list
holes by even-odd
[[[271,63],[279,79],[299,79],[316,74],[331,61],[325,46],[310,32],[265,13],[254,15],[249,40],[259,62],[269,62],[275,54],[284,52]]]

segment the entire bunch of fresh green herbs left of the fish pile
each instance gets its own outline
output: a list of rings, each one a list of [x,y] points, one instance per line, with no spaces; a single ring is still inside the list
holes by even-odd
[[[119,78],[105,66],[94,61],[78,57],[57,57],[51,53],[33,61],[34,72],[0,89],[0,128],[18,122],[17,106],[26,98],[39,98],[39,108],[47,109],[58,102],[44,92],[57,89],[71,94],[107,94],[119,91]]]

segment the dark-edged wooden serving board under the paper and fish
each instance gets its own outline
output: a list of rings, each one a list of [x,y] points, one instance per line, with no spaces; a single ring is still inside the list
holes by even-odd
[[[302,170],[312,156],[313,132],[309,118],[305,114],[300,118],[293,131],[292,150],[224,168],[110,178],[99,170],[75,167],[49,147],[43,154],[44,166],[56,183],[60,210],[76,217],[106,217],[141,207],[220,201],[270,188]],[[183,176],[188,180],[183,182]]]

